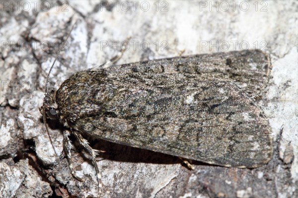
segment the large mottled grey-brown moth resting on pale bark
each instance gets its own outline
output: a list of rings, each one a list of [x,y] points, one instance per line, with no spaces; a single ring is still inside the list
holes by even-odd
[[[227,167],[255,168],[272,156],[271,129],[255,104],[271,63],[258,51],[203,54],[74,73],[46,93],[40,111],[72,132]],[[72,169],[72,164],[70,163]],[[73,173],[74,174],[74,173]]]

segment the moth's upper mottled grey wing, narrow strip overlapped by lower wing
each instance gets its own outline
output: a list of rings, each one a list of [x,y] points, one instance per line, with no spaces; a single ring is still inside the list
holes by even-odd
[[[270,56],[259,50],[236,51],[174,57],[139,63],[111,66],[109,73],[183,73],[202,78],[230,80],[240,92],[256,97],[262,93],[271,72]]]

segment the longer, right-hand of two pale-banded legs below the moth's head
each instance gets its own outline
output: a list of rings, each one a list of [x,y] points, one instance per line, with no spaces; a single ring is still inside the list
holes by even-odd
[[[101,182],[100,182],[100,179],[101,179],[101,175],[99,173],[99,169],[98,169],[98,166],[97,166],[97,163],[96,163],[96,159],[95,159],[95,156],[99,153],[99,152],[105,152],[105,151],[102,151],[102,150],[95,150],[93,149],[88,141],[86,139],[83,138],[83,136],[81,134],[79,134],[78,132],[74,132],[74,136],[76,137],[76,139],[78,140],[79,144],[81,146],[84,147],[84,149],[90,154],[91,156],[91,161],[92,161],[92,164],[95,168],[95,171],[96,171],[96,174],[97,174],[97,182],[98,182],[98,187],[99,189],[102,187],[101,185]]]

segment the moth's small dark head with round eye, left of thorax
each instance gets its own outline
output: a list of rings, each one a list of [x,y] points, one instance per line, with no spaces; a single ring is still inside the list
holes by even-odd
[[[58,119],[57,103],[55,102],[56,91],[45,93],[43,105],[39,107],[39,112],[52,120]]]

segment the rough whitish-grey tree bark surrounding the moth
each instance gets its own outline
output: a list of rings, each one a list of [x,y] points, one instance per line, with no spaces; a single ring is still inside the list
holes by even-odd
[[[38,111],[57,44],[75,21],[67,50],[60,52],[50,75],[51,88],[57,89],[75,71],[105,63],[116,55],[117,49],[110,47],[128,36],[132,37],[130,49],[118,64],[174,57],[182,50],[183,55],[191,55],[241,50],[248,45],[267,49],[273,65],[260,101],[275,139],[273,159],[267,165],[238,169],[193,161],[195,170],[191,171],[170,155],[90,140],[93,148],[106,151],[97,157],[102,197],[297,197],[298,3],[226,5],[216,1],[62,4],[1,0],[0,197],[47,198],[52,191],[53,197],[98,196],[88,156],[74,144],[74,169],[85,180],[80,182],[64,157],[63,128],[48,123],[57,158]]]

